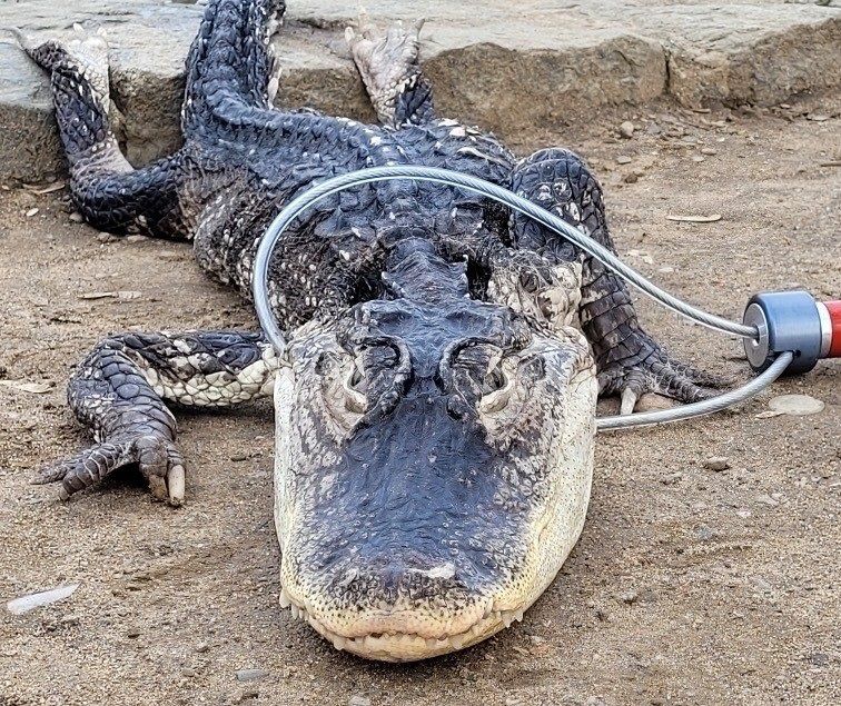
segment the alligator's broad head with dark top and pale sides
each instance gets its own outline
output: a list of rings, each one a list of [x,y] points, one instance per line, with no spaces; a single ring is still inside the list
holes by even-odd
[[[467,295],[408,247],[386,298],[299,329],[275,388],[281,603],[337,648],[459,649],[543,593],[581,533],[596,382],[584,338]]]

